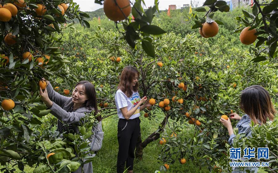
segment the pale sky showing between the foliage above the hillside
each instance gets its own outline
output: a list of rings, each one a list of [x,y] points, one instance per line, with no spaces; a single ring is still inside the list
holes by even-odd
[[[144,0],[147,7],[154,6],[154,0]],[[195,1],[195,2],[194,2]],[[81,11],[95,11],[99,8],[103,8],[103,5],[95,3],[95,0],[74,0],[79,4]],[[192,0],[192,3],[199,2],[198,6],[202,6],[205,0]],[[190,0],[159,0],[158,9],[159,10],[168,10],[169,5],[176,5],[177,9],[180,9],[183,4],[190,4]],[[146,8],[146,7],[144,7]]]

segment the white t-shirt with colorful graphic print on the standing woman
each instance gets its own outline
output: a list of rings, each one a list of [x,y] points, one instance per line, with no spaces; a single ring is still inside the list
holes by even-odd
[[[139,103],[140,99],[141,98],[138,92],[133,91],[132,96],[127,97],[125,93],[123,93],[120,89],[118,89],[115,95],[118,117],[121,119],[125,119],[120,109],[127,107],[129,111]],[[140,106],[137,108],[137,110],[133,113],[133,115],[129,119],[134,119],[139,116],[140,116]]]

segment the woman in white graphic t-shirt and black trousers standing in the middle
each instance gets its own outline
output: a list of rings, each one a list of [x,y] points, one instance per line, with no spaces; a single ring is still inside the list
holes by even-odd
[[[119,117],[117,173],[124,172],[124,164],[128,173],[133,173],[134,150],[140,133],[140,111],[151,106],[146,96],[142,99],[139,96],[138,78],[139,72],[136,68],[124,68],[115,95]],[[145,104],[141,105],[144,102]]]

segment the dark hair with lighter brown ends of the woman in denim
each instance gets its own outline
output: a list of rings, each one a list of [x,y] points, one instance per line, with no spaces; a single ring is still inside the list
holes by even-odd
[[[276,110],[274,109],[270,95],[266,89],[259,85],[252,85],[241,92],[240,108],[250,116],[251,120],[257,124],[258,120],[262,124],[274,119]]]

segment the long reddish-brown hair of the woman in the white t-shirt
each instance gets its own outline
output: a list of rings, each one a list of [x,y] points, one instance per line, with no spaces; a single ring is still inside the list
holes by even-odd
[[[124,92],[125,95],[127,95],[127,97],[131,97],[133,91],[134,92],[138,91],[138,82],[135,84],[135,86],[131,85],[136,74],[138,75],[139,78],[140,74],[138,70],[132,66],[125,67],[121,73],[121,80],[118,85],[118,89],[122,90],[122,92]]]

